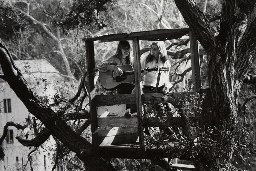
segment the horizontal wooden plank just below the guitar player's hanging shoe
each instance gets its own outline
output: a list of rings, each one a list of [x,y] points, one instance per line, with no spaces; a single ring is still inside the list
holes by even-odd
[[[98,127],[137,127],[137,117],[101,117],[98,118]]]

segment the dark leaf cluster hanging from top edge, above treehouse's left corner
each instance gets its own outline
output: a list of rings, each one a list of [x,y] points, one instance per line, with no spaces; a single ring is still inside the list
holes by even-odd
[[[117,3],[117,0],[65,1],[65,5],[59,4],[58,13],[53,15],[53,18],[56,25],[61,27],[63,32],[77,28],[91,30],[96,27],[102,29],[106,27],[106,24],[105,18],[100,14],[106,13],[115,3]],[[66,8],[63,8],[64,6],[70,7],[68,12]]]

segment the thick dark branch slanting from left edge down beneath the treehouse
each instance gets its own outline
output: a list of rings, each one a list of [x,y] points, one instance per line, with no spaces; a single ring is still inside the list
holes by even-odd
[[[51,131],[60,142],[69,147],[85,163],[85,165],[94,170],[113,169],[113,166],[104,163],[98,157],[80,156],[80,149],[91,148],[91,143],[73,131],[64,120],[58,117],[50,106],[40,101],[31,90],[28,82],[24,79],[20,71],[14,65],[11,55],[4,43],[0,40],[0,64],[2,71],[6,76],[6,81],[16,93],[17,97],[24,103],[28,111],[37,117],[44,126]],[[104,163],[101,165],[100,163]],[[104,165],[108,167],[104,167]]]

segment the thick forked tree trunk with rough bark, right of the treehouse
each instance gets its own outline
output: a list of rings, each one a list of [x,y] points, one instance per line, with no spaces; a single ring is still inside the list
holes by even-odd
[[[175,3],[208,56],[212,114],[216,127],[222,131],[234,131],[238,127],[239,91],[255,59],[256,1],[223,0],[219,30],[211,27],[194,1],[175,0]],[[221,142],[220,137],[216,136],[215,140]],[[224,151],[229,156],[227,163],[219,160],[209,162],[207,155],[201,154],[202,159],[195,164],[201,170],[230,170],[234,147],[234,139],[231,139]]]

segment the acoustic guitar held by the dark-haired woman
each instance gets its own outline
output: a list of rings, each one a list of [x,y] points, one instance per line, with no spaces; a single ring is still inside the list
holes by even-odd
[[[114,71],[107,72],[99,72],[100,85],[105,90],[116,90],[119,86],[123,86],[125,83],[131,83],[134,80],[134,70],[132,65],[117,65],[123,71],[123,75],[119,75]],[[152,71],[169,71],[168,67],[163,68],[151,68],[151,69],[143,69],[143,71],[152,72]]]

